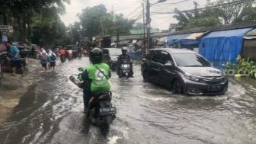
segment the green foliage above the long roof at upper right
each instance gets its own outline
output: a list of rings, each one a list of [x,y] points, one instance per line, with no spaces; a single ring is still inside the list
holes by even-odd
[[[256,7],[252,1],[211,8],[214,5],[223,5],[229,2],[237,2],[237,0],[217,0],[216,2],[208,0],[206,9],[201,11],[197,10],[197,3],[194,3],[194,11],[181,12],[176,9],[174,18],[178,20],[177,30],[256,22]]]

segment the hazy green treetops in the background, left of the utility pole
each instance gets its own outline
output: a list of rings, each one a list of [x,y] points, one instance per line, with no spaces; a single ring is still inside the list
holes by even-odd
[[[82,26],[82,35],[85,37],[129,34],[134,24],[133,20],[123,18],[123,14],[107,12],[104,5],[85,8],[78,17]]]

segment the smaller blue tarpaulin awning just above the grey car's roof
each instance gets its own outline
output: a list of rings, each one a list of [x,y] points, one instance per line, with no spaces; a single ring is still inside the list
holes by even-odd
[[[193,45],[193,44],[198,43],[197,40],[187,39],[187,37],[189,37],[190,35],[191,34],[172,35],[172,36],[168,37],[167,44],[171,45],[171,44],[174,44],[174,43],[181,43],[181,44],[184,44],[184,45]]]

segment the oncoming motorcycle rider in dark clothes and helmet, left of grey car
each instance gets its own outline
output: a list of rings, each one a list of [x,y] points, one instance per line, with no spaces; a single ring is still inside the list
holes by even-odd
[[[122,54],[117,58],[117,75],[121,77],[121,64],[126,61],[130,62],[130,77],[133,77],[133,62],[131,61],[130,56],[127,54],[127,48],[122,48]]]

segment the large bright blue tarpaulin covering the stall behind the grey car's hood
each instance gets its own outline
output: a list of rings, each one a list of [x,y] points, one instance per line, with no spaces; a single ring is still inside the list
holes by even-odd
[[[244,35],[252,28],[214,31],[200,39],[199,53],[210,61],[235,61]]]

